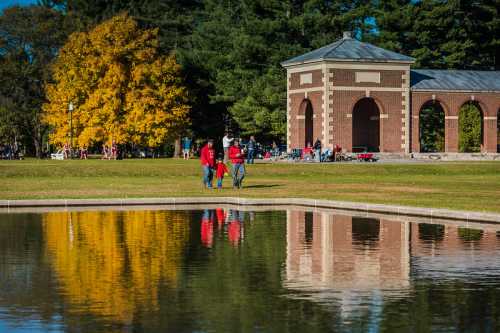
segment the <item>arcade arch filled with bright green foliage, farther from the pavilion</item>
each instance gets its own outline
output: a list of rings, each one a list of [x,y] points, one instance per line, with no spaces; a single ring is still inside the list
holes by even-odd
[[[483,145],[483,111],[479,103],[462,105],[458,114],[458,150],[461,153],[480,152]]]

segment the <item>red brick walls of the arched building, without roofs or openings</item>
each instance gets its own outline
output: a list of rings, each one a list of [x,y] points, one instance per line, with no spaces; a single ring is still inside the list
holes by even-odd
[[[380,83],[356,82],[356,72],[380,73]],[[304,74],[310,78],[311,83],[300,84],[300,77]],[[370,97],[376,101],[381,115],[380,151],[404,153],[407,144],[406,132],[409,130],[409,150],[419,152],[419,111],[434,95],[445,111],[445,151],[458,152],[458,112],[460,107],[470,100],[477,101],[484,114],[482,151],[497,151],[497,141],[500,137],[497,126],[499,94],[411,92],[409,100],[406,100],[407,77],[408,74],[402,70],[329,69],[326,75],[322,69],[313,69],[290,73],[288,148],[303,148],[305,145],[305,119],[301,104],[308,100],[314,113],[313,140],[319,138],[325,147],[338,144],[351,151],[354,106],[360,99]],[[350,90],[349,87],[353,89]],[[328,120],[324,118],[325,103],[328,104]],[[406,105],[410,108],[409,125],[405,113]],[[409,126],[409,129],[406,126]]]

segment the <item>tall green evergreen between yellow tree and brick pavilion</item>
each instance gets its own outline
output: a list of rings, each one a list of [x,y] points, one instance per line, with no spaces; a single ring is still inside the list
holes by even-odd
[[[207,0],[183,52],[204,68],[213,103],[227,103],[244,136],[284,139],[286,77],[280,62],[338,39],[367,33],[367,7],[338,1]]]

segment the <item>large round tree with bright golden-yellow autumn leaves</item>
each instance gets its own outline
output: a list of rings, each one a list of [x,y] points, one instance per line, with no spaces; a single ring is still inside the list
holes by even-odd
[[[140,29],[126,14],[72,34],[46,88],[51,142],[68,141],[70,102],[79,146],[114,140],[156,147],[176,137],[189,121],[187,90],[175,57],[158,45],[157,29]]]

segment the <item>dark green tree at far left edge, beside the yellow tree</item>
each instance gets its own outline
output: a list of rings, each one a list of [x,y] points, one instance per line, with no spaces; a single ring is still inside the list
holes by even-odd
[[[72,30],[69,22],[45,6],[11,7],[0,16],[0,107],[15,140],[38,157],[47,131],[41,106],[49,64]]]

